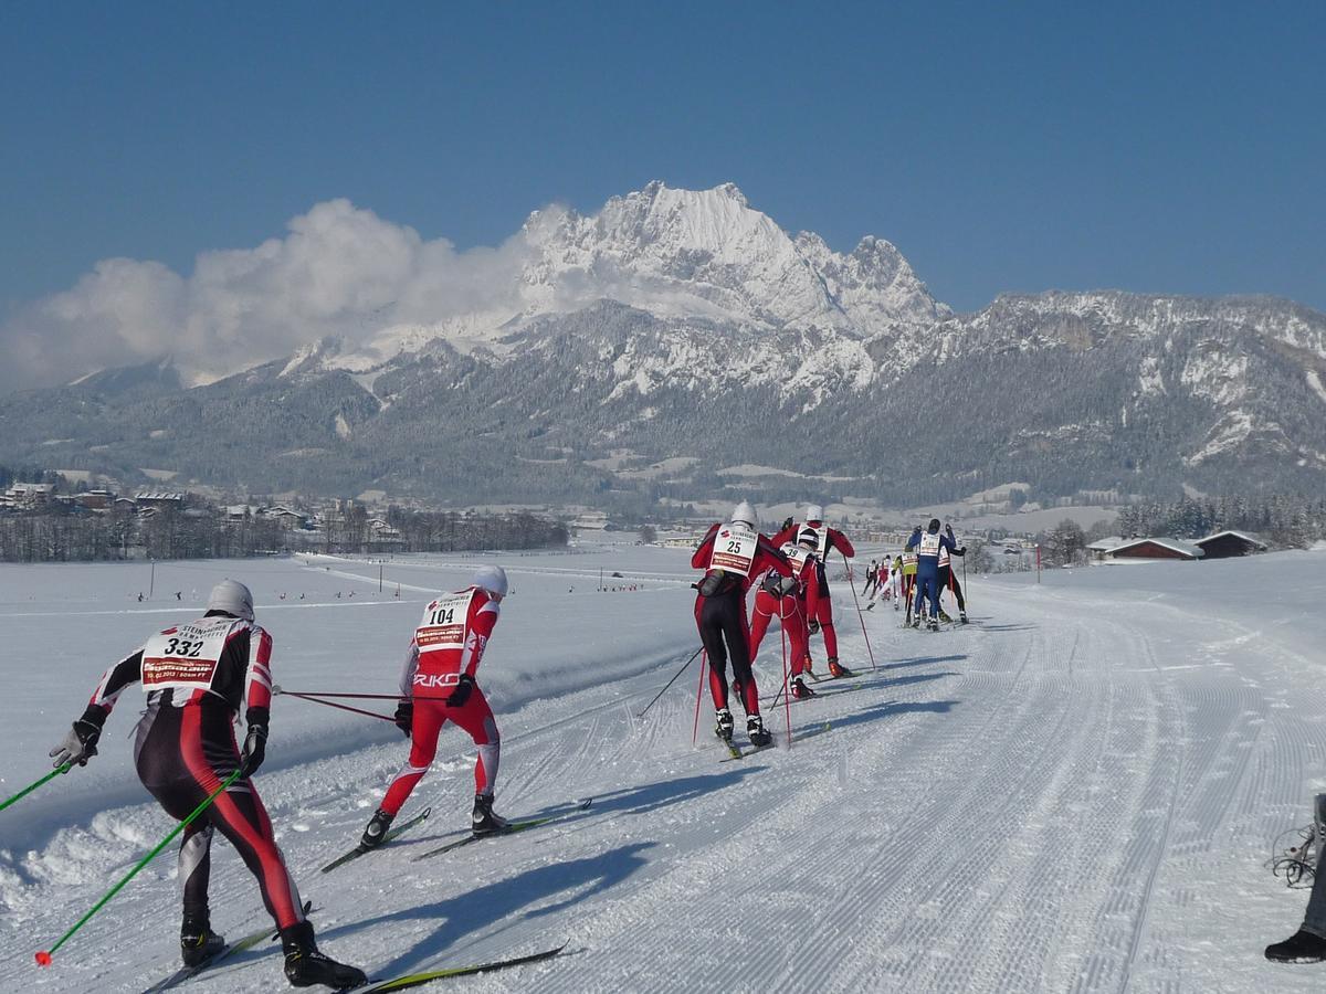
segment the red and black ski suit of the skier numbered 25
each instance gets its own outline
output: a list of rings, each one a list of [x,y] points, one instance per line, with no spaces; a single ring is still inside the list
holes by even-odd
[[[695,598],[695,627],[700,631],[709,663],[709,696],[716,709],[728,706],[728,656],[732,657],[732,676],[741,688],[741,706],[747,714],[760,713],[760,689],[751,672],[751,624],[745,614],[745,594],[754,578],[766,570],[792,575],[788,557],[778,551],[765,535],[758,535],[751,567],[745,575],[721,569],[711,569],[713,541],[723,522],[709,526],[704,539],[691,557],[691,566],[704,570],[704,579],[696,584],[713,583],[713,592]],[[715,575],[717,574],[717,575]],[[711,579],[712,577],[712,579]]]

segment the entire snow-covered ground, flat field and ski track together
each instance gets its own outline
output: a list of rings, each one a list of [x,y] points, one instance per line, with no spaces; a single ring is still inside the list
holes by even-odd
[[[513,595],[480,671],[504,733],[497,808],[528,816],[593,795],[587,811],[414,861],[468,820],[472,754],[448,730],[403,814],[432,804],[427,826],[321,875],[358,838],[407,747],[385,721],[292,697],[273,706],[256,782],[317,907],[320,941],[370,974],[569,940],[550,962],[444,983],[1326,986],[1326,967],[1261,958],[1306,901],[1264,869],[1270,842],[1306,823],[1326,789],[1326,554],[1052,571],[1040,586],[972,578],[967,628],[904,631],[886,606],[867,612],[874,671],[839,583],[842,656],[861,669],[861,689],[793,705],[804,741],[728,763],[708,705],[691,742],[697,664],[635,717],[697,645],[684,551],[590,546],[500,561]],[[143,603],[146,565],[0,567],[0,797],[49,769],[48,749],[106,665],[191,616],[224,575],[253,587],[282,687],[391,692],[428,592],[460,586],[476,562],[396,559],[382,592],[378,565],[362,561],[159,563]],[[599,570],[621,590],[598,592]],[[768,693],[778,645],[774,631],[757,665]],[[137,704],[122,698],[86,769],[0,811],[0,990],[137,991],[178,962],[170,852],[53,966],[33,964],[171,827],[130,769]],[[766,720],[784,740],[786,714]],[[263,921],[257,888],[220,839],[212,917],[236,936]],[[280,990],[280,957],[261,948],[191,986]]]

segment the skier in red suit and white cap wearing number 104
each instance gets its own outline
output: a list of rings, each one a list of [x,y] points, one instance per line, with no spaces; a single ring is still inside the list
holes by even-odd
[[[475,835],[507,828],[507,819],[493,814],[493,787],[501,758],[501,737],[484,692],[475,683],[499,606],[507,596],[507,573],[501,566],[480,566],[469,586],[431,600],[410,639],[400,673],[396,726],[410,736],[410,758],[387,789],[381,807],[363,830],[361,844],[382,844],[410,791],[423,779],[438,754],[438,736],[448,721],[475,740]]]

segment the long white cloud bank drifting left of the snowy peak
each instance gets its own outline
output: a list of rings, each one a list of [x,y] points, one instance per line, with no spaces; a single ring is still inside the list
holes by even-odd
[[[528,247],[456,252],[349,200],[293,219],[252,249],[204,252],[191,276],[107,258],[3,327],[0,390],[66,383],[170,354],[213,378],[288,355],[322,335],[362,342],[399,323],[509,306]]]

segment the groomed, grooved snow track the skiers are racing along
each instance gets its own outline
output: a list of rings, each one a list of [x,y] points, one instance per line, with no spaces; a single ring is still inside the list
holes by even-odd
[[[1262,570],[1269,583],[1264,559],[1238,575]],[[330,876],[318,867],[362,831],[403,740],[257,782],[302,896],[321,909],[320,942],[374,977],[569,938],[548,964],[444,985],[1317,991],[1326,969],[1261,960],[1306,901],[1261,864],[1281,830],[1309,820],[1311,778],[1326,775],[1326,671],[1307,649],[1326,632],[1315,616],[1294,615],[1306,627],[1296,631],[1223,598],[1204,603],[1181,586],[1197,569],[1204,583],[1235,577],[1207,563],[1078,571],[1040,587],[973,578],[973,624],[939,634],[903,630],[876,606],[865,615],[874,672],[839,582],[841,655],[867,688],[793,704],[794,733],[831,728],[790,750],[781,704],[768,709],[780,747],[735,763],[719,762],[708,704],[691,744],[697,663],[635,717],[691,652],[683,614],[668,663],[499,714],[499,810],[530,818],[593,795],[591,808],[436,859],[412,856],[464,827],[472,793],[472,753],[456,732],[403,812],[432,804],[430,822]],[[1323,578],[1296,575],[1305,604],[1326,594]],[[781,677],[777,636],[757,665],[769,688]],[[814,648],[822,669],[818,637]],[[737,725],[744,741],[740,714]],[[121,716],[103,750],[119,747],[123,726]],[[89,820],[91,835],[137,846],[162,824],[147,804]],[[241,934],[263,920],[256,888],[224,842],[213,852],[213,924]],[[178,965],[163,856],[38,971],[33,952],[125,867],[81,867],[60,839],[37,860],[42,876],[23,881],[29,900],[0,918],[0,989],[142,990]],[[0,873],[15,877],[8,864]],[[70,887],[82,875],[95,884]],[[276,948],[190,989],[284,989]]]

